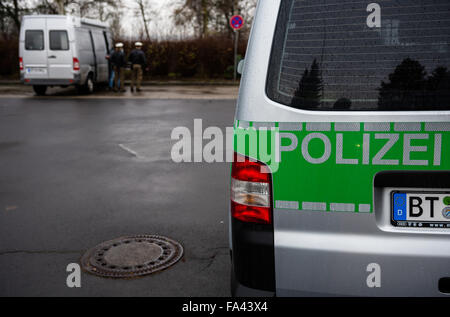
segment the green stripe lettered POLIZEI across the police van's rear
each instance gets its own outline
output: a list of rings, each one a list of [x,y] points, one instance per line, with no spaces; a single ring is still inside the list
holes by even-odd
[[[240,121],[234,141],[236,152],[270,166],[280,208],[370,213],[376,173],[450,170],[449,122]]]

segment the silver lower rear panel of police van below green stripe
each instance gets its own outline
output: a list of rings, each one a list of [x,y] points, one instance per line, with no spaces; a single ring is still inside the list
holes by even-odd
[[[448,235],[371,230],[363,224],[375,224],[374,214],[277,214],[277,296],[450,296],[441,291],[449,287]],[[338,230],[347,225],[353,232]]]

